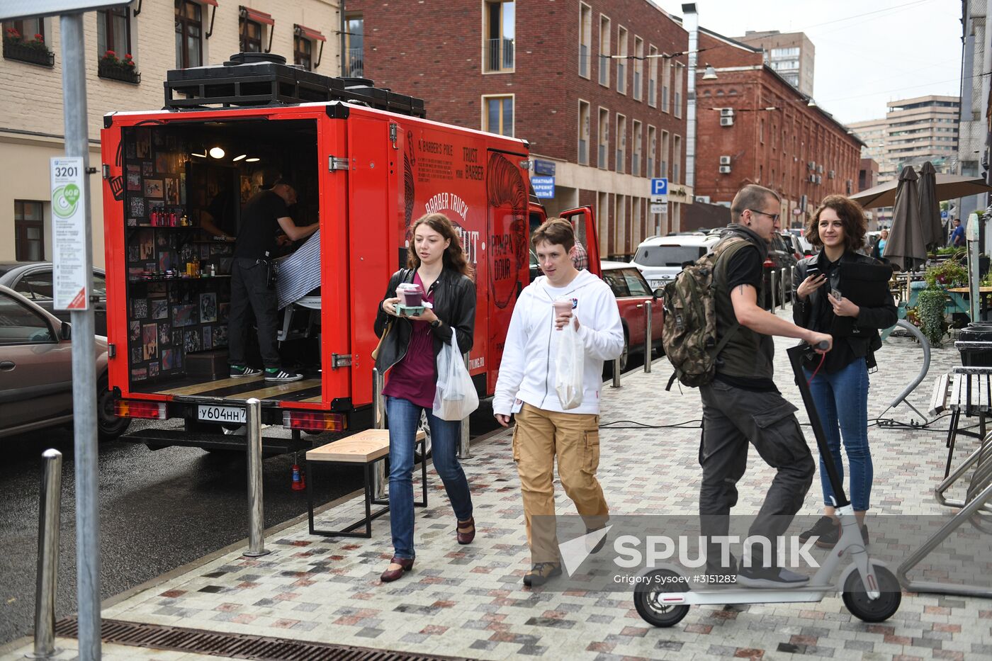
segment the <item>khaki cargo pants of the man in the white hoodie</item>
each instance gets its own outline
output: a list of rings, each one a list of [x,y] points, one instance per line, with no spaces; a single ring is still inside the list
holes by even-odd
[[[596,479],[599,416],[557,413],[524,404],[513,431],[513,461],[520,473],[533,563],[558,562],[555,522],[555,458],[565,494],[588,529],[609,519],[609,507]],[[537,521],[535,521],[535,517]]]

